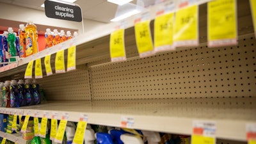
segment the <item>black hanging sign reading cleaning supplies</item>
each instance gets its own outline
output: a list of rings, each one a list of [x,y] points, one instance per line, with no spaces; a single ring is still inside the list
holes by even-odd
[[[70,4],[44,1],[45,15],[54,19],[82,21],[81,8]]]

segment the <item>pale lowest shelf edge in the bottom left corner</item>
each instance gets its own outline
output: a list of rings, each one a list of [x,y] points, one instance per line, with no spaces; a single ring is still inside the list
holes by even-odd
[[[24,140],[20,134],[8,134],[0,131],[0,137],[6,138],[6,140],[13,141],[18,144],[29,144],[31,140]]]

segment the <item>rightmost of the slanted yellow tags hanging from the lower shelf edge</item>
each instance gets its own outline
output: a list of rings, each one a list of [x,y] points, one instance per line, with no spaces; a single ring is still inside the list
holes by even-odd
[[[84,132],[86,129],[87,122],[86,121],[79,121],[76,128],[76,133],[74,136],[73,143],[74,144],[81,144],[84,140]]]

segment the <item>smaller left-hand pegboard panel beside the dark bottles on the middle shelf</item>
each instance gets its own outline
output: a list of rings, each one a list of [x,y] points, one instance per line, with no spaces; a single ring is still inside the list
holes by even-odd
[[[92,100],[88,70],[77,69],[37,80],[47,100]]]

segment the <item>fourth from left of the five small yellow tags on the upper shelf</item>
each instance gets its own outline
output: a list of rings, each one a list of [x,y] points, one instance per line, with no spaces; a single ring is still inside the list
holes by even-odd
[[[58,51],[55,58],[55,71],[56,73],[65,72],[64,50]]]

